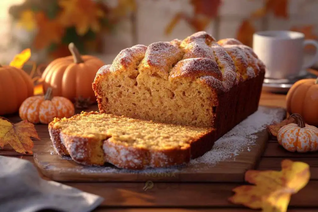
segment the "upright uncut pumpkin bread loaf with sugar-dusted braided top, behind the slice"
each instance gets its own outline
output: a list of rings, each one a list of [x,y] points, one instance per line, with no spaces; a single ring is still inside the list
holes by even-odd
[[[264,75],[250,47],[201,31],[122,50],[93,90],[100,113],[212,127],[219,138],[257,110]]]

